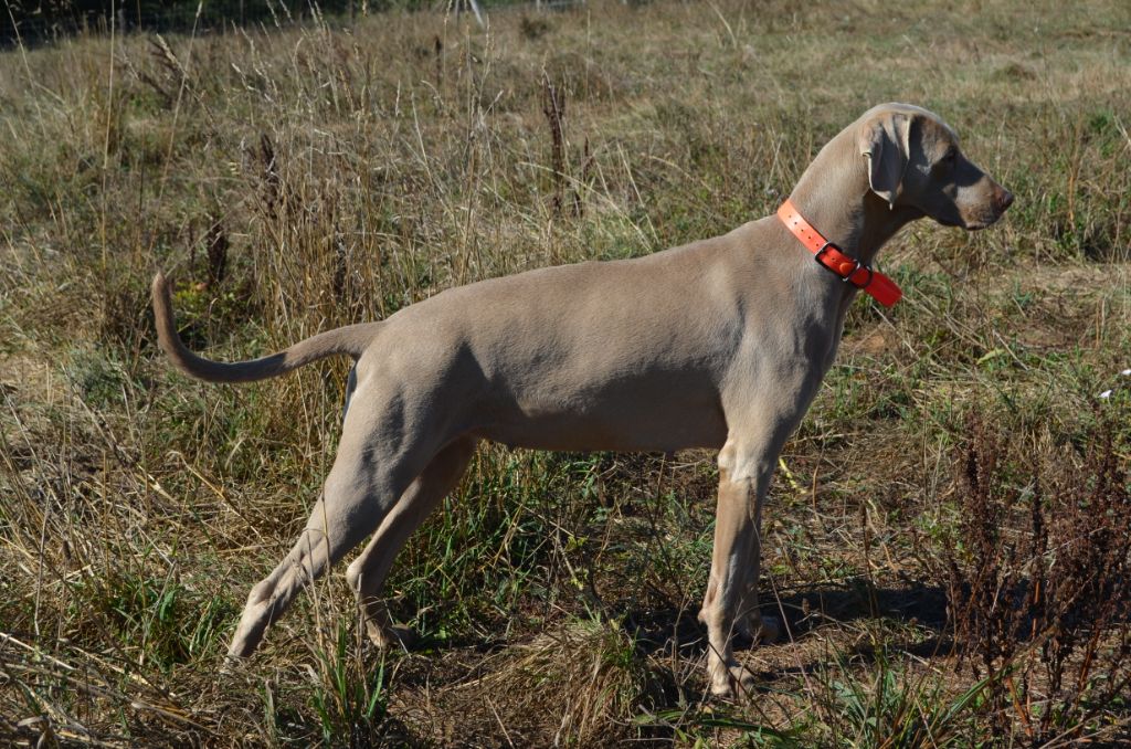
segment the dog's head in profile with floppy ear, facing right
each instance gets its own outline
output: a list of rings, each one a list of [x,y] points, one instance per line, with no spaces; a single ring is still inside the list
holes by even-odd
[[[860,120],[857,143],[872,192],[944,226],[985,229],[1005,213],[1013,195],[958,147],[938,115],[908,104],[882,104]]]

